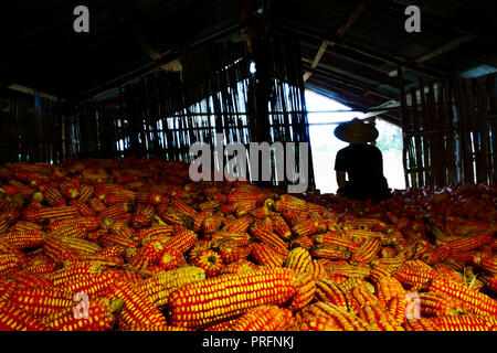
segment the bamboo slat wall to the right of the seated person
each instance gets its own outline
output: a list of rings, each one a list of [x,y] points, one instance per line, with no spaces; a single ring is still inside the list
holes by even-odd
[[[406,186],[496,182],[495,81],[456,77],[401,90]]]

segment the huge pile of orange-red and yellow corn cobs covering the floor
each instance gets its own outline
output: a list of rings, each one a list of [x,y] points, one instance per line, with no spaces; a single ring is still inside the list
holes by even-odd
[[[0,330],[497,330],[491,188],[306,202],[134,158],[0,180]]]

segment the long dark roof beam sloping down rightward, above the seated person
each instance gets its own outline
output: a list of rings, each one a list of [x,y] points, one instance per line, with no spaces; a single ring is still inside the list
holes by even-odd
[[[446,75],[446,73],[437,72],[437,71],[434,71],[434,69],[431,69],[431,68],[421,67],[421,66],[419,66],[415,63],[411,63],[406,58],[395,58],[395,57],[393,57],[391,55],[381,54],[381,53],[378,53],[378,52],[364,49],[364,47],[362,47],[360,45],[345,42],[343,40],[338,39],[336,36],[324,35],[322,33],[318,33],[315,30],[303,28],[303,26],[297,25],[295,23],[285,24],[285,22],[287,22],[286,20],[279,19],[278,22],[279,22],[278,25],[281,28],[285,29],[288,32],[293,32],[293,33],[296,33],[296,34],[302,34],[302,35],[305,35],[305,36],[310,36],[310,38],[314,38],[314,39],[317,39],[317,40],[320,40],[320,41],[328,41],[328,42],[334,43],[337,46],[347,49],[347,50],[349,50],[351,52],[355,52],[355,53],[359,53],[359,54],[362,54],[362,55],[376,58],[376,60],[384,62],[384,63],[390,63],[390,64],[393,64],[395,66],[405,66],[406,68],[412,69],[412,71],[417,72],[417,73],[421,73],[421,74],[423,74],[424,76],[427,76],[427,77],[441,78],[441,77]]]

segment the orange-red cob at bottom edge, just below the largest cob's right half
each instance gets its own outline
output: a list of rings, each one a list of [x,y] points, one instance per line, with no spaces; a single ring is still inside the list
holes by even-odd
[[[276,306],[261,306],[236,319],[230,331],[283,331],[292,321],[292,311]]]

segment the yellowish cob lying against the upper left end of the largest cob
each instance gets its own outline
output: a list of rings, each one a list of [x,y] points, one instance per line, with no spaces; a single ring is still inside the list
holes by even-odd
[[[205,272],[202,268],[184,266],[144,280],[138,285],[138,290],[159,308],[168,304],[170,295],[178,288],[203,279]]]

